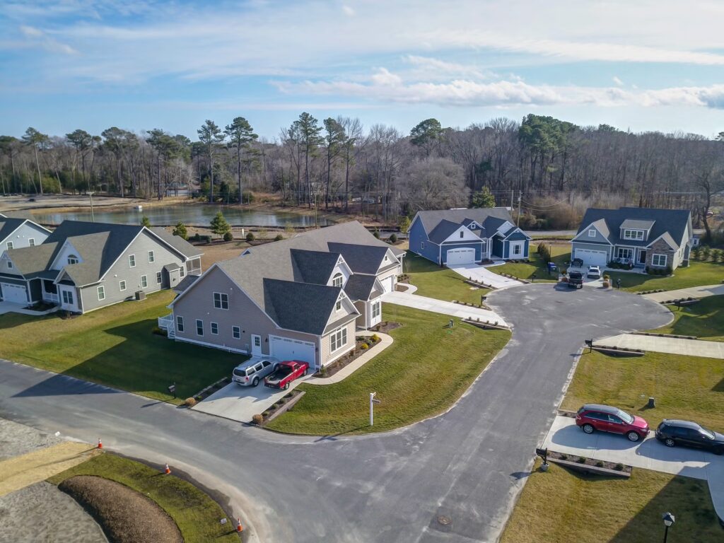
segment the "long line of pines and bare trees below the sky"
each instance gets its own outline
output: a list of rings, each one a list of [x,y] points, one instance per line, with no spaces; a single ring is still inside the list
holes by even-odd
[[[160,199],[182,189],[227,203],[276,193],[287,205],[352,206],[386,221],[476,205],[485,189],[497,205],[520,204],[526,227],[572,227],[588,206],[629,205],[691,209],[709,230],[724,190],[724,132],[633,133],[529,114],[462,129],[425,119],[403,133],[304,112],[273,139],[244,117],[223,127],[207,120],[195,140],[118,127],[0,136],[2,193]]]

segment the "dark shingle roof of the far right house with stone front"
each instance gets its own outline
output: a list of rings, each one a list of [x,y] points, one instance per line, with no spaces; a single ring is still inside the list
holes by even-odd
[[[684,232],[691,224],[691,213],[685,209],[650,209],[639,207],[622,207],[620,209],[597,209],[589,208],[578,227],[580,234],[589,224],[603,224],[609,230],[608,240],[614,245],[633,245],[646,247],[664,233],[668,232],[671,241],[678,248]],[[638,221],[653,223],[647,240],[622,240],[620,229],[626,221]],[[599,228],[599,230],[602,230]],[[604,232],[605,233],[605,232]],[[585,240],[581,240],[585,242]]]

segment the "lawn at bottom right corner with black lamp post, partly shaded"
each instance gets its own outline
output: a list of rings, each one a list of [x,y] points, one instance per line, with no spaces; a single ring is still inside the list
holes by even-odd
[[[536,468],[539,461],[536,461]],[[550,465],[528,477],[501,543],[669,543],[724,540],[706,481],[634,469],[631,479],[585,476]]]

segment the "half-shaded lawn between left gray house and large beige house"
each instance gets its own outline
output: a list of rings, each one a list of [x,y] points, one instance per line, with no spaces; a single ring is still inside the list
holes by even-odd
[[[230,375],[243,355],[167,340],[151,330],[169,313],[169,291],[73,319],[8,313],[0,316],[0,358],[110,387],[180,403]]]

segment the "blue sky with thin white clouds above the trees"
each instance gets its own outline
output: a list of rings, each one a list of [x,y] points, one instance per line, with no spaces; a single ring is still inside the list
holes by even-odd
[[[702,0],[0,0],[0,133],[533,112],[713,137],[722,20]]]

